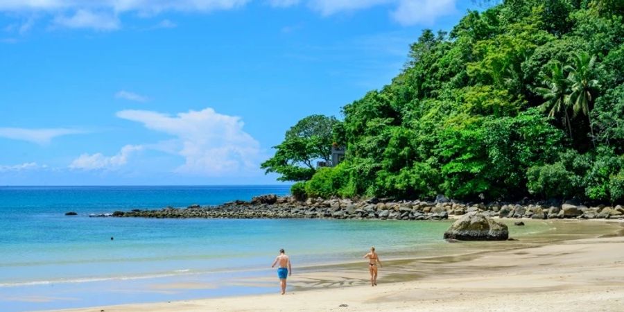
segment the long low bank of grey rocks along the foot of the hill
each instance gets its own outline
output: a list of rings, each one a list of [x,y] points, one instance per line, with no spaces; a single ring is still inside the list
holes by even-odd
[[[442,198],[438,198],[444,201]],[[551,205],[551,204],[549,204]],[[490,218],[624,218],[624,209],[615,207],[591,207],[564,204],[544,207],[539,204],[491,204],[464,203],[455,200],[431,202],[424,200],[370,200],[307,198],[298,201],[291,196],[265,195],[254,197],[250,202],[235,200],[218,206],[194,204],[186,208],[166,207],[157,210],[132,209],[107,214],[91,214],[92,217],[141,217],[141,218],[335,218],[335,219],[382,219],[382,220],[444,220],[449,216],[478,213]]]

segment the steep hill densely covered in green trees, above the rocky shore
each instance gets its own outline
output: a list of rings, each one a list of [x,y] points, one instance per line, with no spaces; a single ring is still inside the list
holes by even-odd
[[[425,30],[392,83],[302,119],[261,166],[302,200],[622,202],[623,8],[502,1]]]

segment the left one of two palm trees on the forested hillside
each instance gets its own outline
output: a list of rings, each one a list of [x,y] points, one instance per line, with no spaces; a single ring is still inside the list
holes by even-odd
[[[570,84],[564,76],[564,70],[560,62],[552,62],[548,65],[549,73],[544,75],[544,85],[546,87],[537,87],[536,91],[544,97],[541,108],[548,112],[549,117],[555,116],[557,113],[564,112],[564,125],[568,127],[570,139],[572,139],[572,126],[570,125],[570,116],[568,114],[568,106],[570,105]]]

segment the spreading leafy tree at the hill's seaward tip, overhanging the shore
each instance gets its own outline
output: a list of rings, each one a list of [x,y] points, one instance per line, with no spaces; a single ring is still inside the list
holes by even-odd
[[[309,180],[316,172],[315,160],[330,161],[333,144],[333,117],[312,115],[300,120],[286,132],[275,155],[261,164],[266,173],[279,173],[280,181]]]

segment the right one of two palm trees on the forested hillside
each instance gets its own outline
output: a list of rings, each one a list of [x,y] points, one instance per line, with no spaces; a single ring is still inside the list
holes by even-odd
[[[582,112],[589,120],[589,130],[593,138],[593,128],[591,127],[591,117],[589,110],[593,101],[592,94],[600,87],[596,77],[596,56],[589,57],[589,53],[581,52],[574,55],[574,64],[564,67],[570,71],[568,80],[571,85],[571,103],[573,103],[574,117]]]

